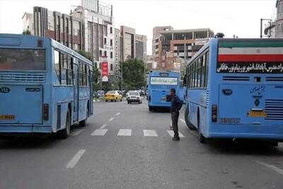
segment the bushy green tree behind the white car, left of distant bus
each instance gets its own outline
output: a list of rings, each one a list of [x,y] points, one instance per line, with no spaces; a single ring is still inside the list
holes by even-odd
[[[127,59],[122,62],[123,88],[126,91],[145,86],[144,62],[140,59]]]

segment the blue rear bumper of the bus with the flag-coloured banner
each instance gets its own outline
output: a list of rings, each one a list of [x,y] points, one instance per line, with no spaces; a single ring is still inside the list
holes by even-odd
[[[214,125],[209,138],[271,139],[283,142],[282,126]]]

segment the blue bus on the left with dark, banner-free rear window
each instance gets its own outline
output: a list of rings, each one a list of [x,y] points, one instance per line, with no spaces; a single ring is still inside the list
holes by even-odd
[[[67,138],[93,114],[93,65],[50,38],[0,34],[0,134]]]

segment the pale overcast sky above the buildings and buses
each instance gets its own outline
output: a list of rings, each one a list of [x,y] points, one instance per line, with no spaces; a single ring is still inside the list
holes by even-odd
[[[103,1],[103,0],[101,0]],[[33,6],[69,13],[80,0],[0,0],[0,33],[21,33],[25,12]],[[113,5],[115,28],[127,25],[146,35],[151,55],[152,28],[211,28],[227,38],[259,38],[260,18],[276,17],[276,0],[108,0]]]

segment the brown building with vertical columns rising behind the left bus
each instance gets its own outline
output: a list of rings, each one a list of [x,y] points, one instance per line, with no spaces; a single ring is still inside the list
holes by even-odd
[[[83,50],[83,23],[80,18],[35,6],[23,15],[23,30],[49,37],[74,50]]]

